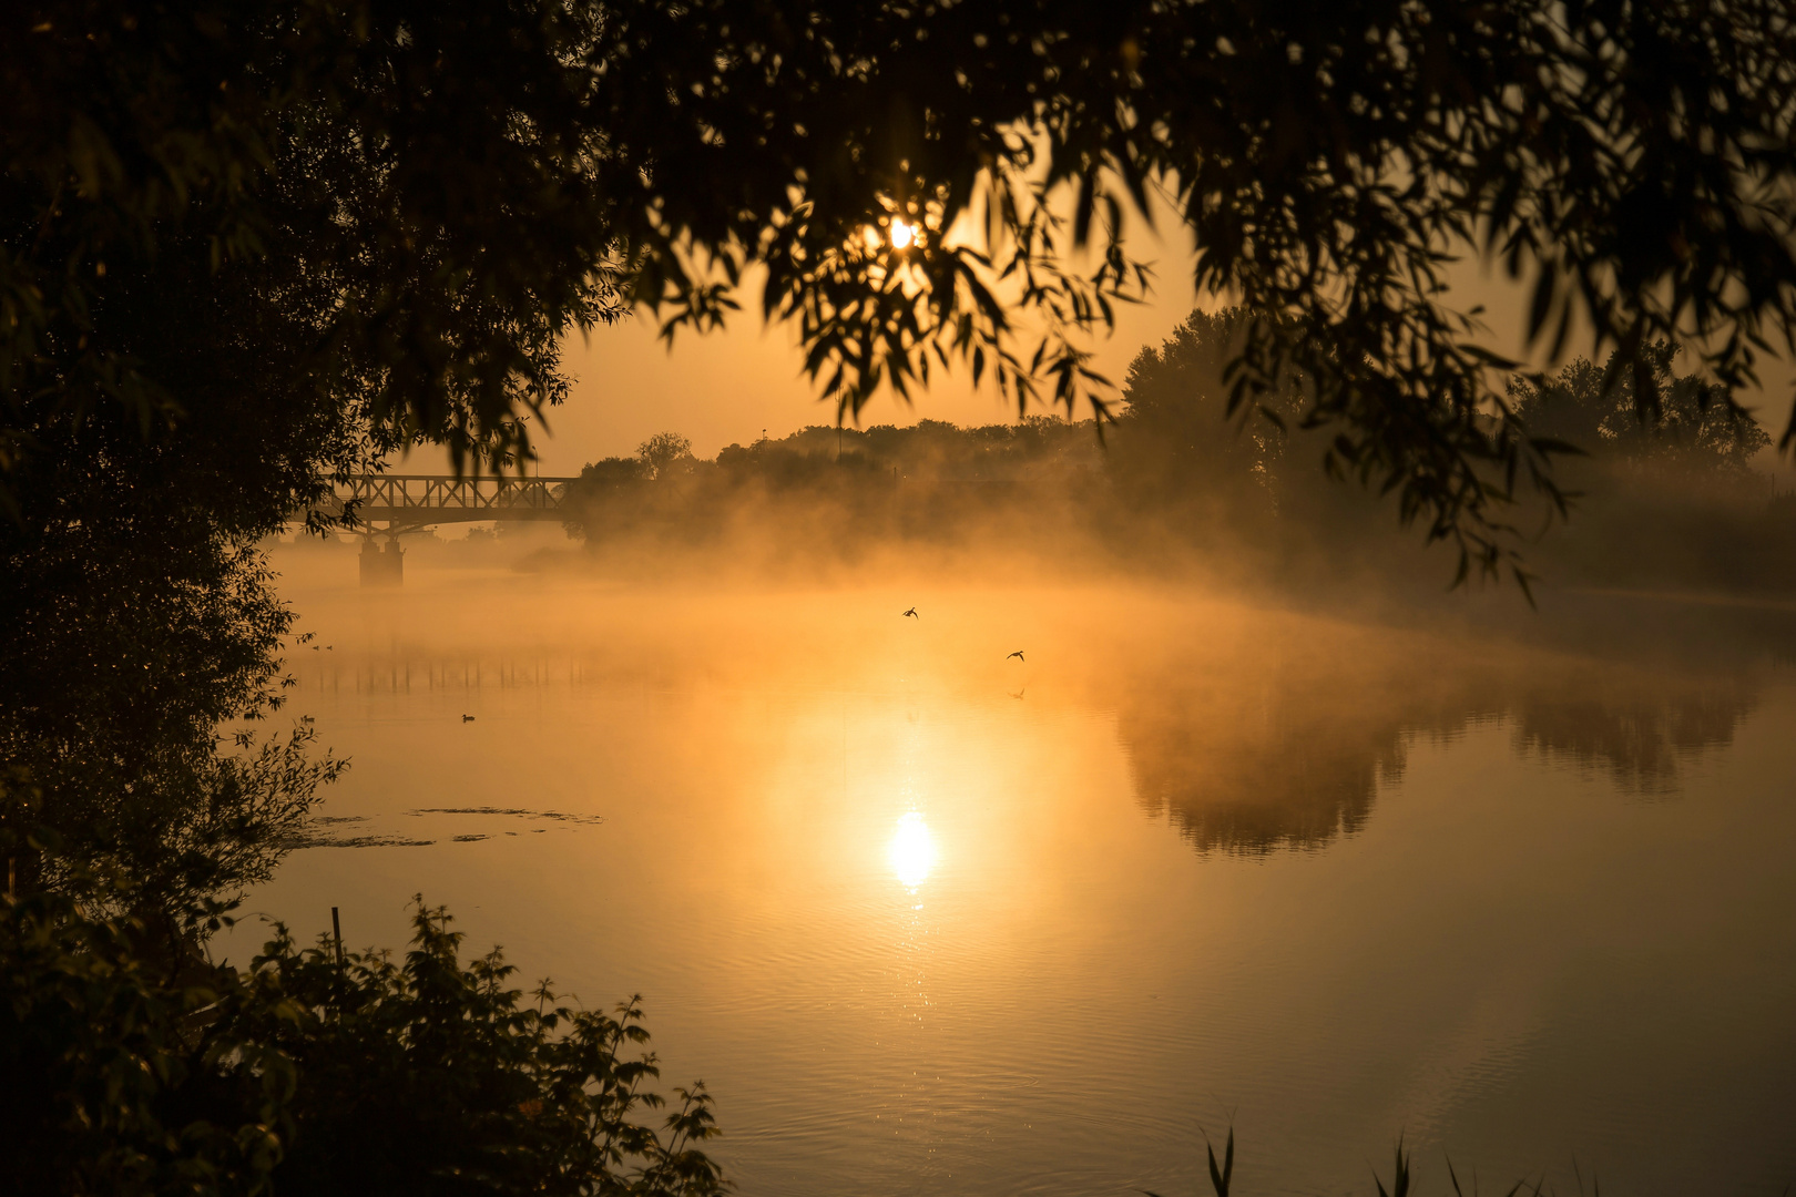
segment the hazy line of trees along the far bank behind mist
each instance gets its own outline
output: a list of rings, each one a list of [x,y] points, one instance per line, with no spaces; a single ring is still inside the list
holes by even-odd
[[[636,540],[731,553],[781,542],[785,556],[858,560],[873,546],[1076,549],[1119,567],[1184,558],[1286,585],[1413,571],[1403,511],[1322,468],[1325,431],[1306,427],[1304,379],[1243,402],[1228,364],[1241,309],[1194,312],[1144,346],[1103,422],[1026,416],[959,427],[810,425],[693,456],[677,432],[605,458],[568,486],[569,533],[594,547]],[[1771,436],[1668,343],[1647,352],[1660,406],[1633,377],[1584,357],[1510,402],[1563,456],[1575,519],[1532,547],[1550,581],[1783,590],[1796,587],[1796,504],[1773,502],[1755,454]],[[1613,364],[1613,363],[1611,363]],[[1492,425],[1494,434],[1494,425]],[[1369,479],[1358,479],[1367,483]]]

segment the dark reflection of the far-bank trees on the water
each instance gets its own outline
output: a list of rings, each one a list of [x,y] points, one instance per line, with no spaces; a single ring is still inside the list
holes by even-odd
[[[1417,738],[1478,725],[1516,752],[1672,795],[1758,702],[1742,675],[1654,671],[1464,641],[1290,621],[1162,659],[1115,691],[1135,793],[1200,852],[1318,849],[1361,829]],[[1254,678],[1243,686],[1241,678]]]

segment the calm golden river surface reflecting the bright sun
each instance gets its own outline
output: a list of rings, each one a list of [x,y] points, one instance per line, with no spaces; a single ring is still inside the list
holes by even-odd
[[[1796,1179],[1787,671],[343,565],[295,714],[354,765],[248,906],[395,946],[422,892],[643,994],[744,1193],[1189,1193],[1230,1122],[1248,1193],[1369,1193],[1399,1132],[1430,1190]]]

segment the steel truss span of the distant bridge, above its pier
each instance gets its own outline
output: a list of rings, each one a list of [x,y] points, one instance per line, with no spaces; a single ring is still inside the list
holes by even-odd
[[[573,477],[456,477],[453,474],[352,474],[318,504],[327,515],[354,513],[357,531],[397,537],[431,524],[559,520]]]

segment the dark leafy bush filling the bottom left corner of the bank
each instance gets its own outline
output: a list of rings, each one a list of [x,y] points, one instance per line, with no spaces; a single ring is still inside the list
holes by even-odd
[[[418,903],[402,960],[300,949],[239,973],[129,917],[0,897],[0,1192],[706,1197],[704,1086],[666,1116],[639,1005],[510,989]]]

